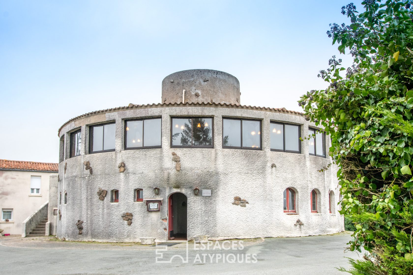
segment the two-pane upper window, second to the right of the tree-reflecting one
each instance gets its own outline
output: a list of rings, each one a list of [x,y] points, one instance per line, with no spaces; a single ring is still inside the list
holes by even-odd
[[[301,153],[300,125],[271,122],[271,150]]]

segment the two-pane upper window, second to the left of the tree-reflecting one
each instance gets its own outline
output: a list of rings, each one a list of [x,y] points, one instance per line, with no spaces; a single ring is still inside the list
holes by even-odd
[[[90,127],[90,153],[115,150],[115,123]]]

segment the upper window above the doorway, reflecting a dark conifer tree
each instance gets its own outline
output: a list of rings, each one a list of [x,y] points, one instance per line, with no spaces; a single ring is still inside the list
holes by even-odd
[[[171,118],[171,147],[214,147],[212,118]]]

